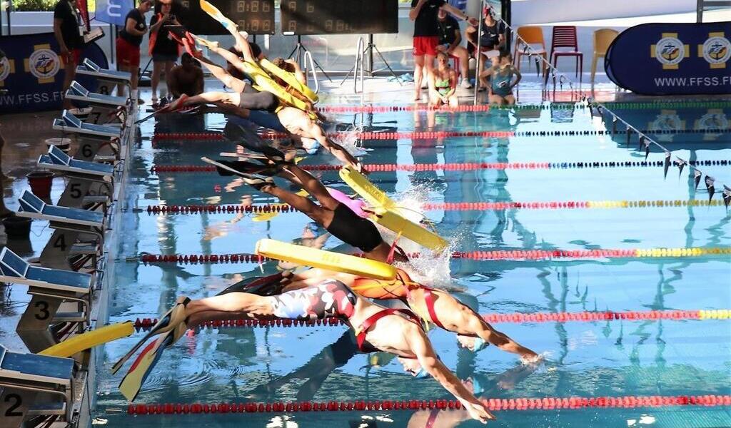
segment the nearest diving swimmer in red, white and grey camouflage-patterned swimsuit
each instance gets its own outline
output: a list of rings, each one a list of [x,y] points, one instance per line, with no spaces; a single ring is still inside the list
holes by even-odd
[[[276,296],[232,292],[198,300],[178,297],[177,304],[160,317],[149,334],[114,365],[113,370],[118,370],[146,340],[160,335],[132,365],[128,376],[121,383],[122,391],[127,398],[134,400],[160,353],[183,337],[187,329],[205,321],[247,317],[302,320],[338,318],[355,329],[357,345],[361,350],[377,349],[395,354],[400,360],[417,360],[424,370],[465,406],[473,419],[483,423],[495,419],[485,402],[477,400],[439,360],[413,313],[371,303],[336,280],[313,280],[308,288]],[[142,375],[137,370],[143,370]]]

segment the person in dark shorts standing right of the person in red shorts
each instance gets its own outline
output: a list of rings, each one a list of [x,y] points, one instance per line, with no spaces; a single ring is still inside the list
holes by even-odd
[[[155,15],[150,20],[150,47],[149,53],[152,56],[152,104],[157,104],[157,85],[160,83],[160,74],[164,69],[165,79],[170,79],[170,71],[178,61],[178,42],[170,37],[170,31],[165,28],[167,25],[179,26],[175,15],[172,13],[173,0],[163,0],[155,4]],[[170,84],[168,83],[168,90]],[[162,92],[161,92],[162,93]]]

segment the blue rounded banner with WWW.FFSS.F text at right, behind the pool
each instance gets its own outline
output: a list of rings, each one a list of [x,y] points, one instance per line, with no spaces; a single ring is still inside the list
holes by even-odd
[[[616,85],[643,95],[731,93],[731,22],[627,28],[607,50]]]

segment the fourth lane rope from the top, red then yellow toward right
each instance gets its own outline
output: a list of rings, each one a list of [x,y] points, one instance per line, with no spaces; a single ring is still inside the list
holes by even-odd
[[[485,210],[596,210],[617,208],[659,207],[722,207],[716,199],[660,199],[639,201],[545,201],[545,202],[427,202],[421,205],[425,211],[485,211]],[[148,205],[151,215],[194,215],[202,213],[295,213],[286,204],[268,205]]]

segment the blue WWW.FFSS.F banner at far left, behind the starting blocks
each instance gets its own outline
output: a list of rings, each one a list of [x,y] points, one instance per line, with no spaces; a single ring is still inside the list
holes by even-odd
[[[58,57],[58,43],[53,33],[22,34],[0,37],[0,114],[39,112],[61,108],[64,64]],[[109,63],[102,48],[86,45],[82,58],[90,58],[102,68]],[[86,88],[96,88],[96,80],[77,74],[76,80]]]

